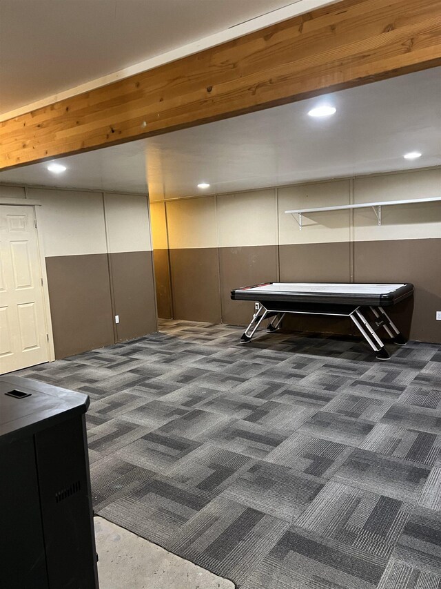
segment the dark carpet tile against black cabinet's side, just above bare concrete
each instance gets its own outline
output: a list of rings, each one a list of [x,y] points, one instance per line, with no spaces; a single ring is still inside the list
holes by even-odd
[[[156,473],[121,460],[118,456],[105,456],[92,463],[90,481],[94,510],[105,507],[123,494],[145,484]]]

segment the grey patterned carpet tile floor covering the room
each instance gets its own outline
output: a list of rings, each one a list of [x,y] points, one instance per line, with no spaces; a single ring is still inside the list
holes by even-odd
[[[164,321],[85,392],[94,510],[241,589],[441,589],[441,345]]]

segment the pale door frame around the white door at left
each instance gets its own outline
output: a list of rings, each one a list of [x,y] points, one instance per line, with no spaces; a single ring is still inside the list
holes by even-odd
[[[43,313],[45,318],[45,328],[46,334],[48,334],[48,352],[49,352],[49,362],[53,362],[55,360],[55,349],[54,349],[54,334],[52,333],[52,318],[50,316],[50,299],[49,299],[49,289],[48,289],[48,275],[46,273],[46,263],[45,263],[45,255],[44,255],[44,247],[43,247],[43,238],[41,236],[41,232],[39,231],[42,222],[42,215],[41,215],[41,201],[37,199],[31,198],[0,198],[0,206],[32,206],[34,210],[34,220],[37,222],[37,226],[35,227],[37,231],[37,255],[39,258],[39,265],[40,265],[40,275],[43,279],[42,289],[43,289]]]

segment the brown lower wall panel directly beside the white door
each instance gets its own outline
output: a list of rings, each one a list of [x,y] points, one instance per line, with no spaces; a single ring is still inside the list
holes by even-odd
[[[106,253],[46,258],[55,358],[114,343]]]

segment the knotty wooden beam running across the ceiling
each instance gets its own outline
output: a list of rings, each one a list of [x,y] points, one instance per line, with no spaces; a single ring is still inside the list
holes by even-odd
[[[440,65],[440,0],[343,0],[1,122],[0,169]]]

